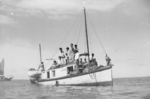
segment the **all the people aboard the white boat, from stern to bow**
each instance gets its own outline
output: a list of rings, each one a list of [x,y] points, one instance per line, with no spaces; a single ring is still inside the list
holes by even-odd
[[[90,65],[90,66],[97,66],[97,61],[96,58],[94,57],[94,53],[92,53],[91,55],[89,55],[88,53],[81,53],[79,54],[79,49],[78,46],[75,44],[73,45],[72,43],[70,44],[70,48],[66,47],[66,51],[64,52],[62,48],[59,48],[60,51],[60,55],[58,56],[58,61],[53,60],[52,66],[49,69],[54,69],[54,68],[59,68],[62,67],[64,65],[67,65],[69,63],[75,63],[76,64],[76,69],[78,71],[79,66],[86,66],[86,65]],[[81,58],[81,56],[90,56],[90,58],[87,60],[87,58]],[[106,54],[106,62],[107,65],[110,64],[111,59],[108,57],[108,55]],[[39,65],[38,70],[43,71],[45,70],[44,68],[44,63],[41,62],[41,64]]]

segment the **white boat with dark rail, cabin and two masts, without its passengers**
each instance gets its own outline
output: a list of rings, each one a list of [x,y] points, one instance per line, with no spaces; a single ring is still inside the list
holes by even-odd
[[[39,85],[56,85],[56,86],[113,86],[113,75],[110,58],[106,54],[106,65],[98,65],[96,62],[90,60],[89,40],[86,22],[86,9],[84,7],[84,26],[86,37],[87,51],[79,54],[87,58],[87,62],[77,64],[75,61],[69,61],[65,64],[58,64],[49,70],[29,69],[28,76],[32,84]],[[41,58],[41,45],[40,62]]]

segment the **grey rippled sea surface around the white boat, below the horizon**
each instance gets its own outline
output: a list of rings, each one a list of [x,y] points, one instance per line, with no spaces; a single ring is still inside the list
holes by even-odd
[[[150,99],[150,77],[117,78],[114,86],[40,86],[29,80],[0,81],[0,99]]]

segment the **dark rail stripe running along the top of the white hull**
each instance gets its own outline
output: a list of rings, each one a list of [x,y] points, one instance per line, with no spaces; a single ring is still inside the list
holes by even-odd
[[[111,69],[111,68],[112,68],[111,66],[107,66],[107,67],[99,68],[99,69],[97,69],[97,70],[95,70],[93,72],[87,72],[87,73],[81,73],[81,74],[73,74],[73,75],[68,75],[68,76],[59,77],[59,78],[53,78],[53,79],[39,79],[39,80],[37,80],[37,82],[45,82],[45,81],[54,81],[54,80],[60,80],[60,79],[67,79],[67,78],[87,75],[87,74],[90,74],[90,73],[101,72],[101,71],[108,70],[108,69]]]

